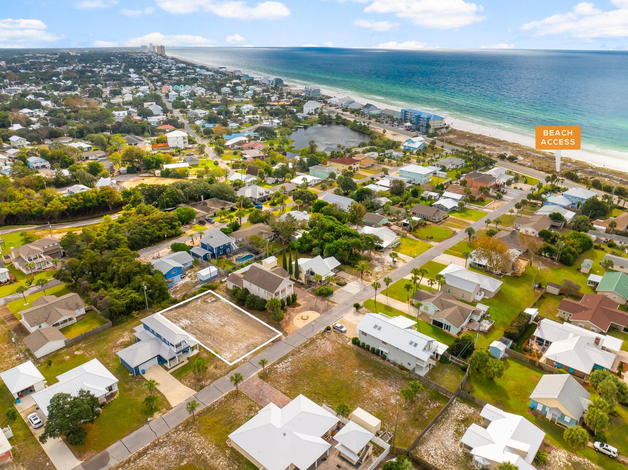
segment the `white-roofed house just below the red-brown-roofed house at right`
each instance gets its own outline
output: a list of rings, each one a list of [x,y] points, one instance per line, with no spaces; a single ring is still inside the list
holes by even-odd
[[[547,318],[538,323],[529,339],[531,346],[543,352],[541,362],[580,378],[587,378],[595,369],[612,369],[622,343],[621,339]]]

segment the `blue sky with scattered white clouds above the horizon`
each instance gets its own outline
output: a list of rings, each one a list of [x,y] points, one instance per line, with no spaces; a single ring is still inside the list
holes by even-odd
[[[628,0],[2,0],[0,49],[628,50]]]

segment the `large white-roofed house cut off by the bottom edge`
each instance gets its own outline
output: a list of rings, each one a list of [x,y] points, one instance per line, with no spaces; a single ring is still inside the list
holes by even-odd
[[[229,434],[227,445],[265,470],[314,469],[327,460],[338,418],[303,395],[269,403]]]

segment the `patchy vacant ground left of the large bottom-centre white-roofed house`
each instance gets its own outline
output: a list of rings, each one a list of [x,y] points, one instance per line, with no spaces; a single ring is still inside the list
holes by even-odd
[[[230,392],[192,419],[166,432],[141,451],[122,461],[116,470],[255,470],[227,436],[261,407],[244,393]]]

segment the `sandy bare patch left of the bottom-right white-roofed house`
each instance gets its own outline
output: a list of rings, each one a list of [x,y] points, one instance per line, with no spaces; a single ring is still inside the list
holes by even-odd
[[[460,438],[472,423],[479,424],[480,410],[455,400],[414,447],[414,453],[441,470],[458,470],[471,461],[460,446]]]

